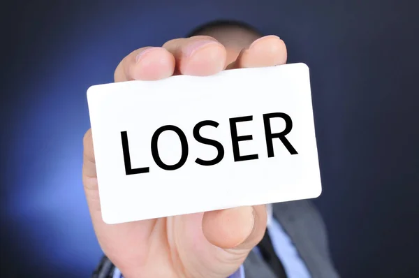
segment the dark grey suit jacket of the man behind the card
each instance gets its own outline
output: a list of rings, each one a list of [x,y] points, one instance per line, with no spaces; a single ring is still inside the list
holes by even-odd
[[[273,214],[293,241],[312,278],[339,277],[330,257],[323,219],[309,200],[276,203]],[[269,266],[254,251],[250,252],[243,266],[246,278],[275,278]],[[102,277],[100,273],[105,270],[109,273],[112,268],[112,263],[104,257],[94,277]]]

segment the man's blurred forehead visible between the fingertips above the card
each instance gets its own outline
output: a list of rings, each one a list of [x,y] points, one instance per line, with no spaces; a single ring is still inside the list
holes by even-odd
[[[260,36],[241,27],[216,27],[203,31],[199,36],[212,36],[227,50],[227,64],[235,61],[243,48],[249,47]]]

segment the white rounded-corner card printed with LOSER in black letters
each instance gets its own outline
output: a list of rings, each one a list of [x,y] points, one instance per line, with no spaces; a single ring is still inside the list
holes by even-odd
[[[305,64],[96,85],[87,98],[108,224],[321,193]]]

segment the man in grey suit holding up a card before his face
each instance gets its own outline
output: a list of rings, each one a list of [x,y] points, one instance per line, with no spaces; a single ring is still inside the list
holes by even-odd
[[[115,82],[275,66],[286,57],[277,36],[260,36],[239,22],[212,22],[188,38],[131,52],[117,66]],[[94,277],[338,277],[322,219],[307,200],[107,225],[91,131],[84,136],[83,182],[106,255]]]

